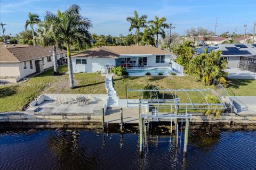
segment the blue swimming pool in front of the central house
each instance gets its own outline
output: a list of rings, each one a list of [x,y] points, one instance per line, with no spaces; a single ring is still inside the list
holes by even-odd
[[[158,75],[158,73],[162,73],[163,75],[170,75],[171,71],[167,68],[156,68],[156,69],[145,69],[145,70],[126,70],[129,75],[145,75],[146,73],[150,73],[151,75]]]

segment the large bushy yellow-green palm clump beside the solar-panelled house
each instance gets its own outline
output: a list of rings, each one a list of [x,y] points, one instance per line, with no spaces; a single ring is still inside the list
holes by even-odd
[[[221,83],[226,83],[227,61],[221,60],[221,51],[199,54],[194,57],[189,63],[188,73],[199,75],[201,82],[204,85],[211,85],[213,80],[218,80]]]

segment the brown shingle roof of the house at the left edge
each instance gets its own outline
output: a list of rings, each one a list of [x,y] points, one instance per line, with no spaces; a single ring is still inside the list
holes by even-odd
[[[66,50],[58,50],[57,54],[66,53]],[[52,47],[29,46],[29,45],[1,45],[0,62],[18,63],[36,58],[52,55]]]

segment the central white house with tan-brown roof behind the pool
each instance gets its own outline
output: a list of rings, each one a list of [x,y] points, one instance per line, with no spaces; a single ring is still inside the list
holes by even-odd
[[[113,66],[169,66],[171,53],[152,46],[99,46],[72,57],[74,72],[107,73]]]

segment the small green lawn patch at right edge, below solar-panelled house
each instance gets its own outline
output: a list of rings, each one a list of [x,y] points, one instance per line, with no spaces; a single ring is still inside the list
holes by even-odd
[[[256,80],[230,79],[223,87],[230,96],[256,96]]]

